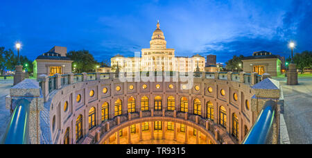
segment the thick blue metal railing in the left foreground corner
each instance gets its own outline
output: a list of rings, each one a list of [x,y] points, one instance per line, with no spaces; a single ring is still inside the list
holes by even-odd
[[[12,113],[10,124],[3,136],[4,144],[28,144],[28,110],[29,101],[26,99],[19,100],[14,112]]]

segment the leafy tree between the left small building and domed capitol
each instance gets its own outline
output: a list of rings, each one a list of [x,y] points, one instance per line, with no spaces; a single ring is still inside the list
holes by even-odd
[[[73,65],[76,65],[76,67],[73,67],[73,68],[76,69],[77,73],[95,72],[96,66],[99,65],[99,63],[96,62],[96,60],[94,60],[93,55],[90,54],[89,51],[86,51],[86,50],[70,51],[67,54],[67,57],[73,60]]]

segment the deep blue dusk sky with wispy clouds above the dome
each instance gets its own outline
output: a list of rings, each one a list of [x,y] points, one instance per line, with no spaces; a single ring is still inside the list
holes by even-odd
[[[177,56],[312,51],[311,0],[2,0],[0,46],[23,45],[31,60],[53,46],[86,49],[96,60],[149,48],[157,19]]]

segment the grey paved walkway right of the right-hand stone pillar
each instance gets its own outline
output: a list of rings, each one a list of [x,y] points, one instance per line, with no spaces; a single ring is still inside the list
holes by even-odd
[[[279,80],[284,92],[284,119],[292,144],[312,143],[312,78],[299,78],[299,84],[286,85]]]

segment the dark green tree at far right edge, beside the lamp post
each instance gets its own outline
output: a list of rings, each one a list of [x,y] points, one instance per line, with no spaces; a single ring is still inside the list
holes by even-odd
[[[304,69],[311,67],[312,64],[312,51],[303,51],[302,53],[296,53],[293,57],[297,69],[304,73]]]

